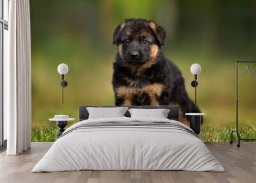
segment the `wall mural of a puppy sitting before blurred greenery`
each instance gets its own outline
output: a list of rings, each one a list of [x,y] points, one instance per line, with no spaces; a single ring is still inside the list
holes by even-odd
[[[58,128],[49,118],[68,115],[76,118],[68,125],[76,123],[81,105],[175,103],[182,109],[180,117],[187,121],[184,113],[205,113],[200,134],[204,141],[229,141],[236,127],[236,60],[256,60],[255,3],[241,3],[31,1],[31,140],[54,141]],[[136,26],[122,24],[131,18],[153,20],[147,22],[147,29],[139,26],[146,35],[136,37],[132,35]],[[134,49],[138,42],[140,47]],[[141,76],[131,75],[132,70],[152,66],[156,53],[161,67]],[[140,68],[132,63],[134,60],[149,62]],[[68,65],[65,89],[57,72],[61,63]],[[128,66],[120,67],[120,63]],[[196,76],[200,83],[196,105],[195,88],[191,86],[193,63],[202,66]],[[239,93],[244,101],[240,107],[241,134],[252,138],[256,136],[256,68],[247,65],[240,73],[246,79]],[[129,87],[124,88],[124,83]]]

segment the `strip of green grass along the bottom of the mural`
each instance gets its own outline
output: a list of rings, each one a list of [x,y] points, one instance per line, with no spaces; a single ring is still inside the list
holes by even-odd
[[[200,138],[205,142],[228,142],[230,141],[230,132],[234,127],[216,127],[214,125],[203,125]],[[31,141],[55,141],[56,127],[40,127],[36,125],[32,128]],[[242,138],[255,138],[256,128],[253,125],[243,125],[241,127]],[[234,135],[236,140],[236,136]]]

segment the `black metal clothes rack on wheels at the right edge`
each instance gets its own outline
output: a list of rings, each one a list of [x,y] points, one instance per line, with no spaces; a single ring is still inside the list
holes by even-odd
[[[243,141],[254,141],[256,140],[256,138],[252,138],[252,139],[245,139],[245,138],[241,138],[241,134],[239,132],[239,127],[238,127],[238,109],[239,109],[239,106],[238,106],[238,102],[239,102],[239,87],[238,87],[238,84],[239,84],[239,73],[238,73],[238,67],[239,67],[239,64],[241,63],[246,63],[246,68],[242,74],[242,76],[244,76],[244,74],[246,74],[246,72],[250,72],[250,74],[254,75],[256,74],[255,71],[251,71],[250,70],[250,67],[248,64],[250,63],[256,63],[256,61],[236,61],[236,131],[232,131],[231,134],[230,134],[230,143],[232,144],[234,142],[234,139],[233,139],[233,134],[235,133],[236,136],[237,136],[237,139],[238,139],[238,143],[237,143],[237,147],[240,147],[240,141],[243,140]]]

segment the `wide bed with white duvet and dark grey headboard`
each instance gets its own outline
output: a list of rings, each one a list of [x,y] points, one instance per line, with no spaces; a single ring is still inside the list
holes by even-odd
[[[178,122],[177,106],[140,106],[170,109],[165,119],[131,118],[129,111],[120,118],[88,119],[86,107],[79,107],[80,122],[63,132],[32,172],[225,171],[195,132]]]

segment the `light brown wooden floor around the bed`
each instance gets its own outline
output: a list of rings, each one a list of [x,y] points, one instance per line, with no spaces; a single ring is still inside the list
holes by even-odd
[[[256,143],[207,143],[225,172],[195,171],[65,171],[31,173],[52,143],[32,143],[31,150],[17,156],[0,154],[0,182],[256,182]]]

